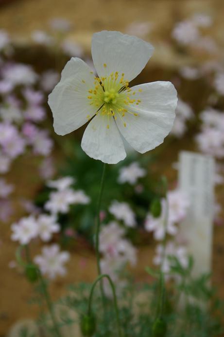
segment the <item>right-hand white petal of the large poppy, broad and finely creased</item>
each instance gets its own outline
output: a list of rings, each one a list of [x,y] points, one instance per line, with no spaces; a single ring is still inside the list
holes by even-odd
[[[130,104],[116,123],[123,137],[138,152],[144,153],[161,144],[172,129],[177,104],[177,94],[171,82],[145,83],[132,88],[132,97],[139,105]],[[142,92],[138,92],[138,90]],[[123,124],[126,123],[126,127]]]

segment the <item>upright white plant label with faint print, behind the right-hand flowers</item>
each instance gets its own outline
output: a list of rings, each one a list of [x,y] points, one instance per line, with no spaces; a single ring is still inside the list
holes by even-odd
[[[214,174],[215,163],[212,157],[188,151],[180,152],[179,188],[190,200],[189,211],[180,231],[194,258],[194,276],[211,271]]]

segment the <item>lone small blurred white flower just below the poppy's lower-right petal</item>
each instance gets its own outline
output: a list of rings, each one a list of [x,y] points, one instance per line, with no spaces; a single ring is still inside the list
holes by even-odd
[[[138,178],[142,178],[146,175],[146,170],[140,168],[137,162],[130,164],[129,166],[125,166],[119,171],[119,183],[129,183],[134,185],[137,183]]]

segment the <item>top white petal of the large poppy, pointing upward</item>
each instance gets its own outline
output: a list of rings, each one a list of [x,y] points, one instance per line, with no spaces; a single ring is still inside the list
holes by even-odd
[[[100,77],[118,72],[131,81],[144,69],[153,50],[150,43],[120,32],[103,31],[92,38],[92,59]]]

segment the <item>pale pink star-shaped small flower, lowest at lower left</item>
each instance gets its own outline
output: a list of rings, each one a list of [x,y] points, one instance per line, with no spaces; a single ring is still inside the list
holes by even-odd
[[[64,276],[66,274],[64,264],[69,261],[69,257],[68,252],[60,252],[58,244],[52,244],[44,246],[42,255],[35,256],[34,262],[39,266],[43,275],[53,280],[57,275]]]

